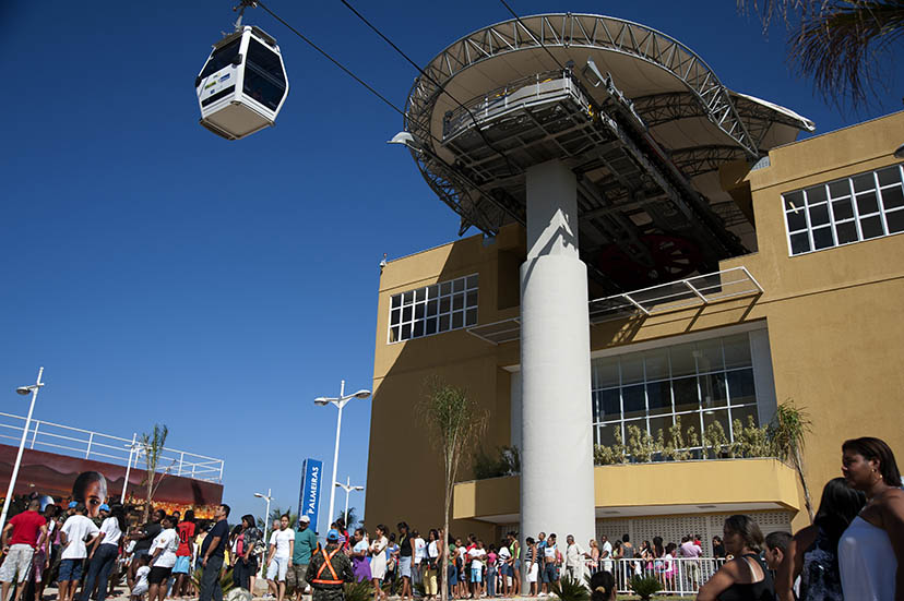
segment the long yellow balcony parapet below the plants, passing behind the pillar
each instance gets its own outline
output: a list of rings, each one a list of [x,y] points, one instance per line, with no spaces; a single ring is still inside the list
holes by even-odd
[[[800,508],[797,474],[772,458],[598,466],[594,483],[599,519]],[[520,484],[518,476],[459,482],[453,519],[518,522]]]

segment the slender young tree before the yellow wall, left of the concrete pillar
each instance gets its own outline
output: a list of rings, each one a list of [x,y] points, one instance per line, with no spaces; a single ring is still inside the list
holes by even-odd
[[[468,398],[463,388],[451,386],[441,380],[428,381],[427,395],[418,408],[424,424],[430,433],[433,445],[439,450],[443,468],[443,541],[442,563],[440,568],[449,565],[449,512],[452,507],[452,491],[455,478],[463,460],[467,458],[472,448],[484,432],[487,423],[486,411],[480,410],[477,404]],[[449,587],[440,587],[442,601],[449,600]]]

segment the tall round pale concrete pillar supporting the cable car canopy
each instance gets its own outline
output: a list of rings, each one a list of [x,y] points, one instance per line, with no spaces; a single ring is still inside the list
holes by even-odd
[[[521,266],[521,539],[595,538],[587,271],[578,255],[574,173],[527,169]]]

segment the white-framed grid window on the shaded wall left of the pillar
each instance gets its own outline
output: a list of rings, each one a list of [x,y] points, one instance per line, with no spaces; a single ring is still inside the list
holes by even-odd
[[[477,325],[477,274],[390,298],[388,342]]]

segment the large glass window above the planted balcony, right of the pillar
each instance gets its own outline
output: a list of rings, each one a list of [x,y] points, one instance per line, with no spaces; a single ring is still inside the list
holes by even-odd
[[[759,425],[747,333],[594,359],[592,369],[595,444],[611,445],[616,429],[627,441],[630,425],[670,442],[680,418],[686,445],[693,426],[698,445],[687,448],[695,450],[711,423],[722,424],[729,442],[736,419],[747,426],[751,416]]]

